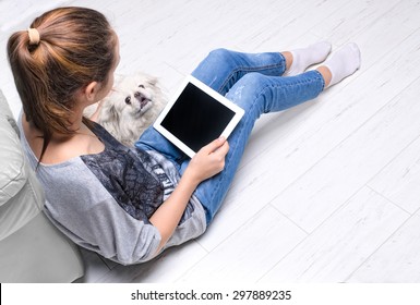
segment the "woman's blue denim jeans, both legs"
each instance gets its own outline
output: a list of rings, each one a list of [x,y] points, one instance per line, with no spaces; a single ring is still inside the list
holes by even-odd
[[[225,49],[212,51],[192,75],[240,106],[245,114],[228,138],[229,152],[225,169],[203,181],[194,195],[206,211],[209,224],[221,206],[243,155],[252,127],[261,114],[281,111],[315,98],[324,88],[317,71],[281,77],[286,70],[283,54],[240,53]],[[156,150],[171,160],[180,174],[190,159],[153,127],[135,144],[145,150]]]

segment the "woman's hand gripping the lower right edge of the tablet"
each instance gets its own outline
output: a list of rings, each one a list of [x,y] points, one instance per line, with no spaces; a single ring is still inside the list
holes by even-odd
[[[229,144],[225,137],[219,137],[204,146],[191,159],[183,175],[188,175],[196,184],[219,173],[225,168],[225,157]]]

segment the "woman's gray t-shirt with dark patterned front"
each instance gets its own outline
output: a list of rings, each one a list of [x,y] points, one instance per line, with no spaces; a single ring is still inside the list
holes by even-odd
[[[20,120],[21,142],[35,169]],[[179,182],[175,166],[156,151],[128,148],[101,126],[93,132],[105,150],[58,164],[43,164],[36,174],[45,187],[49,219],[73,242],[123,265],[152,259],[160,242],[148,221]],[[206,229],[203,206],[192,196],[164,248],[200,236]]]

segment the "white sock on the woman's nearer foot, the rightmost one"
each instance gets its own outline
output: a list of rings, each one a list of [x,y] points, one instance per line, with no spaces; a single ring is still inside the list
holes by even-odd
[[[332,78],[329,86],[341,82],[360,68],[360,50],[358,45],[350,42],[334,52],[323,65],[329,69]]]

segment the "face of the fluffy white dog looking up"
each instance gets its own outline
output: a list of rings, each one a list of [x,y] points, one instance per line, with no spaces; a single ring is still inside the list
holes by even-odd
[[[157,80],[146,75],[127,77],[109,96],[122,118],[140,118],[154,105]]]

